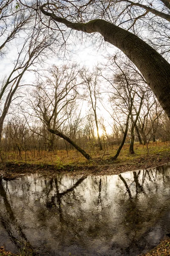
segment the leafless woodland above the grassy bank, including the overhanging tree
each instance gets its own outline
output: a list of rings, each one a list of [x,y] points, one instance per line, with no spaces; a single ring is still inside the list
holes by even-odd
[[[169,12],[167,0],[1,1],[3,165],[69,151],[116,160],[124,145],[143,156],[151,142],[159,154],[170,140]],[[74,61],[87,40],[102,53],[90,67]]]

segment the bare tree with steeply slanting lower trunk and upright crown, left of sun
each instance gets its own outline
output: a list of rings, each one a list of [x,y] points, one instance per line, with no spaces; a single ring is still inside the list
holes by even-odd
[[[65,110],[77,98],[77,87],[82,84],[78,76],[79,71],[74,64],[70,68],[54,66],[45,81],[38,81],[31,106],[35,116],[46,125],[49,132],[66,140],[89,160],[90,155],[62,132],[62,125],[68,120]]]

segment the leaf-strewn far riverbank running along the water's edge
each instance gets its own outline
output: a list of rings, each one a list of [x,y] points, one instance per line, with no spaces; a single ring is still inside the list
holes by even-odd
[[[90,161],[71,163],[62,161],[60,164],[37,163],[37,161],[24,163],[23,161],[9,160],[5,169],[1,163],[0,174],[3,174],[5,179],[12,179],[28,173],[41,173],[49,177],[56,173],[65,173],[66,175],[114,175],[137,169],[149,169],[170,162],[169,146],[164,151],[160,151],[160,148],[157,147],[154,149],[154,153],[148,156],[146,154],[130,155],[124,152],[117,160],[111,160],[111,157],[106,159],[95,157]],[[75,151],[74,154],[76,154]]]

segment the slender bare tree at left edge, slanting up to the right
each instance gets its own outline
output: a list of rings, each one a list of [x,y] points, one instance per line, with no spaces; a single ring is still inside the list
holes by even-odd
[[[13,102],[14,94],[17,89],[22,86],[21,82],[26,71],[30,70],[31,67],[37,64],[46,55],[48,47],[54,43],[55,38],[51,35],[39,32],[31,32],[28,34],[26,39],[24,39],[23,45],[21,46],[20,52],[18,52],[18,57],[14,62],[14,67],[11,73],[6,79],[1,83],[0,88],[0,139],[2,136],[3,122],[8,113],[11,102]],[[47,43],[44,43],[48,41]]]

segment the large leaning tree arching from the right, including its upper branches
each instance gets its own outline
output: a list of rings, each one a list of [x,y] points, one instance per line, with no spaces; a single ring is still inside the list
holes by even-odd
[[[170,118],[169,0],[50,0],[40,3],[39,13],[51,28],[63,30],[62,23],[81,32],[98,32],[124,52]]]

